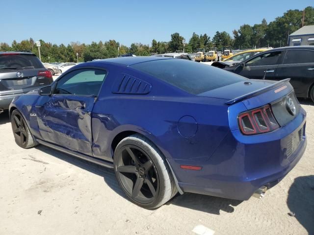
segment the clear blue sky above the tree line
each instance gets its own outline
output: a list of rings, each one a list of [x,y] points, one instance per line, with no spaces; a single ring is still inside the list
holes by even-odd
[[[5,2],[5,4],[4,4]],[[188,42],[193,32],[238,29],[282,16],[289,9],[314,6],[314,0],[10,0],[0,3],[0,42],[11,45],[32,37],[52,44],[114,39],[151,44],[170,41],[179,32]]]

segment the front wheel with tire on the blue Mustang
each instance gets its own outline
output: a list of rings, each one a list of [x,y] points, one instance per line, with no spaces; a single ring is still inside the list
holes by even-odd
[[[15,142],[22,148],[31,148],[37,145],[31,135],[25,119],[17,110],[13,110],[11,114],[11,125]]]

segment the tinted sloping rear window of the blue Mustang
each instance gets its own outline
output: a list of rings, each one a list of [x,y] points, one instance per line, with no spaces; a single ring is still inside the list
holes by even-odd
[[[197,62],[168,59],[132,65],[131,68],[148,73],[190,94],[201,94],[246,78]]]

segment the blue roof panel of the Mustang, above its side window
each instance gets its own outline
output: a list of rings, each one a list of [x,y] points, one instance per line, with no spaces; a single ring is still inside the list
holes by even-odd
[[[171,60],[173,58],[167,57],[157,57],[157,56],[129,56],[129,57],[118,57],[118,58],[110,58],[110,59],[103,59],[103,60],[96,60],[92,61],[93,63],[99,62],[110,62],[120,65],[135,65],[143,62],[154,61],[154,60]],[[88,62],[90,63],[90,62]]]

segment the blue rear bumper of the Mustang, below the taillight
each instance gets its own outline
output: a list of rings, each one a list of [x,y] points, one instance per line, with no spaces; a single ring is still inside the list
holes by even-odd
[[[268,141],[247,143],[230,132],[208,161],[168,159],[178,185],[184,192],[236,200],[248,200],[262,186],[273,187],[298,163],[306,149],[307,140],[302,134],[296,149],[287,156],[291,137],[300,129],[305,133],[305,116],[302,111],[302,122],[297,127],[295,120],[280,128],[280,132],[263,134],[269,136]],[[291,128],[294,129],[289,132]],[[186,170],[180,168],[182,164],[203,168]]]

